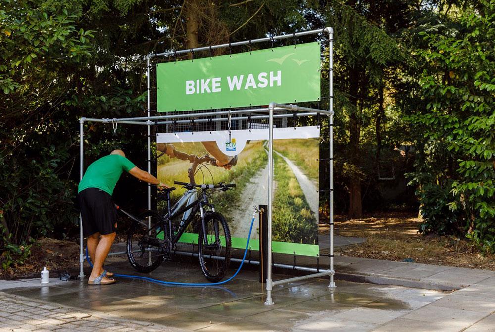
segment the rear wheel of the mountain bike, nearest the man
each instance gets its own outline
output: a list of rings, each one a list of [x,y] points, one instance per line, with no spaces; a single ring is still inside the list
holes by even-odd
[[[139,219],[148,224],[149,217],[151,218],[151,231],[149,231],[150,228],[135,222],[127,236],[127,258],[132,267],[139,272],[151,272],[156,269],[169,251],[168,228],[163,225],[154,227],[162,223],[156,211],[145,211]]]

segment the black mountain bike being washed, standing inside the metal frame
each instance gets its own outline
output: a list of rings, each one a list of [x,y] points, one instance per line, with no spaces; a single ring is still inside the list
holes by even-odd
[[[203,161],[205,157],[207,156],[202,157]],[[230,265],[232,242],[227,221],[215,211],[214,205],[208,200],[208,193],[215,189],[227,191],[236,185],[177,181],[174,184],[183,186],[186,192],[172,207],[170,192],[175,188],[164,189],[159,193],[158,199],[166,201],[167,210],[148,210],[139,217],[121,210],[137,221],[127,238],[129,262],[137,271],[151,272],[163,261],[171,260],[173,255],[183,254],[191,249],[193,242],[198,244],[199,264],[204,277],[211,282],[220,281]],[[176,226],[172,220],[179,216],[181,219]],[[188,233],[184,234],[186,230]],[[198,233],[197,237],[191,232]],[[187,241],[183,240],[181,243],[179,240],[183,235],[187,237]]]

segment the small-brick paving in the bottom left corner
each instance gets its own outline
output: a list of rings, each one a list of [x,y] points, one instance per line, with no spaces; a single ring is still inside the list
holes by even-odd
[[[150,322],[123,320],[108,314],[47,304],[0,292],[0,332],[21,331],[173,331]]]

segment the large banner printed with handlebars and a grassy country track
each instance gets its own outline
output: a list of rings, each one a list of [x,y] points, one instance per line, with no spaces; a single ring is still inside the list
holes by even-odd
[[[274,128],[274,198],[272,214],[273,252],[316,256],[318,246],[318,174],[320,130],[317,126]],[[229,224],[232,246],[244,249],[253,206],[268,204],[268,129],[159,133],[156,137],[158,179],[173,185],[189,182],[189,156],[206,154],[231,167],[207,165],[195,175],[198,184],[235,183],[233,191],[211,196],[216,211]],[[178,187],[173,201],[185,192]],[[183,243],[198,243],[198,233],[184,233]],[[249,246],[259,250],[259,229],[254,224]]]

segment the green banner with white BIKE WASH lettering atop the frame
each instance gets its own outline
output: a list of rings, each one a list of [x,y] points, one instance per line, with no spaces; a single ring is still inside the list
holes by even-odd
[[[156,65],[157,110],[223,109],[320,98],[320,44]]]

